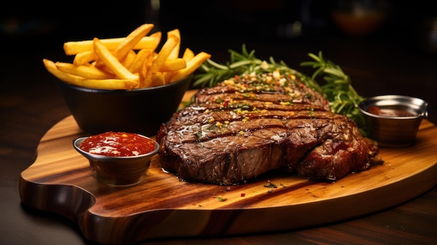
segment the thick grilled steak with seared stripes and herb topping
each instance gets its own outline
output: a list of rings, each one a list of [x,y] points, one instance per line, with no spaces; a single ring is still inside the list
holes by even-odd
[[[200,89],[156,135],[164,170],[179,179],[239,184],[283,169],[336,181],[378,161],[354,121],[294,75],[243,75]]]

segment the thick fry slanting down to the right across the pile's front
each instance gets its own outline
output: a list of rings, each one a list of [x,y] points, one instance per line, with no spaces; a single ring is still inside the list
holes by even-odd
[[[98,58],[107,66],[117,77],[124,80],[132,80],[138,82],[140,77],[131,73],[126,67],[124,67],[117,58],[101,43],[98,38],[94,38],[94,51],[98,55]]]

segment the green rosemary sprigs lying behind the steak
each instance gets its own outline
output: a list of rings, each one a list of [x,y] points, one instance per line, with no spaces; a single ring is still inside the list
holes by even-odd
[[[211,59],[205,61],[194,76],[193,87],[214,87],[218,82],[235,75],[260,74],[279,70],[283,75],[295,75],[307,87],[325,96],[332,112],[343,114],[355,121],[361,133],[366,135],[366,120],[357,107],[364,98],[357,94],[351,85],[350,77],[343,73],[340,66],[325,60],[321,51],[318,55],[309,53],[313,61],[301,63],[301,66],[311,66],[316,69],[311,77],[290,68],[283,61],[274,61],[273,57],[270,57],[268,62],[262,61],[255,57],[255,50],[248,52],[246,45],[243,45],[241,53],[235,50],[228,50],[228,52],[230,52],[230,60],[226,64],[218,64]],[[325,84],[320,85],[316,82],[319,75],[323,75]]]

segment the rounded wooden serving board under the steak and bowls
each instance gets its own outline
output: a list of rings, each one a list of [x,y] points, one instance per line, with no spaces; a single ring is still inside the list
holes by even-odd
[[[47,131],[21,174],[20,198],[70,218],[100,244],[307,228],[399,205],[437,183],[437,127],[427,120],[413,147],[380,149],[383,165],[335,183],[278,172],[235,186],[187,183],[163,172],[154,157],[142,183],[106,186],[73,149],[83,135],[72,116]]]

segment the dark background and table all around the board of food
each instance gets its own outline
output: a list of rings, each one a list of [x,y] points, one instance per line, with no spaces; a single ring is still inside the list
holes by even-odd
[[[34,161],[40,138],[70,114],[54,85],[54,77],[42,62],[43,58],[71,61],[72,57],[63,50],[63,43],[69,40],[126,36],[149,22],[163,33],[179,28],[182,47],[209,52],[214,61],[227,61],[228,49],[239,51],[245,43],[261,59],[274,57],[309,74],[313,70],[299,67],[300,62],[309,60],[309,52],[323,51],[326,59],[350,75],[353,86],[363,96],[403,94],[423,98],[432,107],[437,105],[437,13],[433,1],[366,1],[376,3],[385,19],[378,28],[362,35],[340,29],[332,17],[333,10],[350,1],[163,0],[159,9],[151,8],[152,2],[9,1],[8,8],[0,8],[0,244],[86,242],[71,221],[24,207],[18,195],[20,172]],[[301,28],[290,28],[299,24]],[[429,120],[437,124],[432,107]],[[415,211],[417,205],[431,209],[429,203],[435,204],[435,196],[436,188],[400,208],[358,222],[241,240],[236,237],[215,244],[269,244],[272,240],[277,244],[305,244],[318,232],[320,241],[332,242],[336,237],[324,236],[325,230],[338,232],[362,223],[390,230],[398,241],[403,241],[403,229],[395,227],[407,223],[435,225],[435,208],[425,216]],[[383,227],[386,223],[392,223],[393,228]],[[423,233],[409,239],[428,237],[435,241],[435,232],[431,238],[427,233],[433,227],[417,228]],[[360,232],[364,232],[361,239],[376,239],[366,236],[366,230]],[[356,238],[347,232],[342,234],[344,239],[349,236],[349,242]],[[390,237],[384,239],[390,241]],[[205,242],[214,239],[186,241]]]

